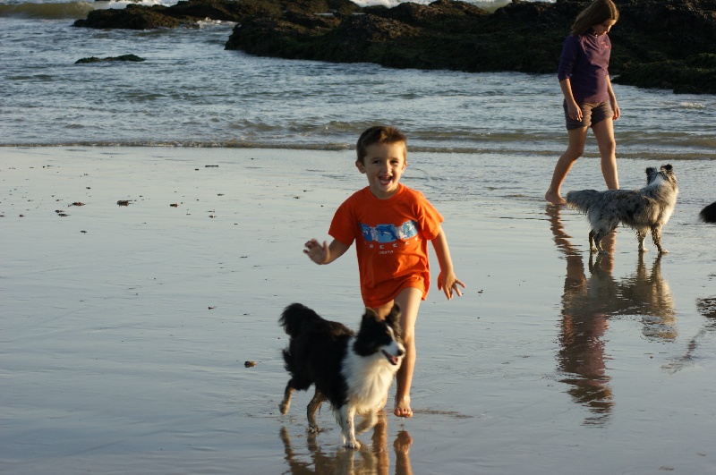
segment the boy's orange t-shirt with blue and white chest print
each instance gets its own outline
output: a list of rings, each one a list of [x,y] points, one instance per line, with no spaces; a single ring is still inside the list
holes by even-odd
[[[396,298],[405,288],[430,289],[428,241],[435,239],[443,218],[420,191],[398,183],[389,199],[370,188],[356,191],[337,209],[328,229],[334,239],[355,242],[361,294],[367,307]]]

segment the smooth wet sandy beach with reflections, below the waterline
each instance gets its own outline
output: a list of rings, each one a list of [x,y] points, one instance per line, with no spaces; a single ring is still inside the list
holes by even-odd
[[[622,228],[591,259],[584,217],[541,198],[552,157],[411,154],[467,289],[431,289],[415,416],[354,454],[328,407],[307,435],[311,394],[277,410],[281,310],[362,312],[353,251],[302,254],[366,184],[351,150],[0,154],[4,473],[716,473],[712,161],[673,163],[669,254]],[[659,165],[620,161],[622,187]],[[601,186],[594,157],[566,185]]]

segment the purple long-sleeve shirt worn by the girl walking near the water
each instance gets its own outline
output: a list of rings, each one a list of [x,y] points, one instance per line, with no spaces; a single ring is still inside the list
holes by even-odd
[[[604,34],[569,35],[559,58],[559,82],[569,78],[577,104],[609,101],[611,41]]]

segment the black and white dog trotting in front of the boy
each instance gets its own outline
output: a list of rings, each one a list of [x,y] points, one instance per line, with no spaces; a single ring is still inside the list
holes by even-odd
[[[291,379],[278,406],[281,413],[288,411],[294,389],[305,391],[315,385],[316,392],[306,410],[309,430],[320,430],[316,411],[328,401],[341,427],[343,445],[360,448],[355,434],[375,426],[377,412],[388,397],[388,389],[405,355],[399,319],[397,305],[384,320],[366,309],[356,335],[343,324],[320,318],[300,303],[286,307],[278,321],[290,336],[283,352]],[[356,415],[363,417],[357,428]]]

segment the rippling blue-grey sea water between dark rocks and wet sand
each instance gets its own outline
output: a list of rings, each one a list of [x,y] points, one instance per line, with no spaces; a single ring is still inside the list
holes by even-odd
[[[0,145],[344,149],[371,124],[391,123],[413,150],[554,159],[565,147],[556,75],[262,58],[226,51],[234,24],[217,21],[72,27],[93,8],[123,7],[0,2]],[[74,64],[128,54],[146,61]],[[716,96],[615,91],[619,157],[716,157]]]

